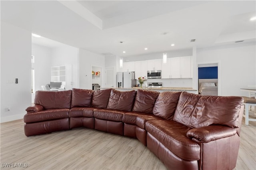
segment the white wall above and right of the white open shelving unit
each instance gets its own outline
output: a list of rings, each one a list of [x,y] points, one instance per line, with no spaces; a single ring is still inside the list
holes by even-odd
[[[51,66],[66,65],[66,89],[79,87],[78,80],[78,49],[69,45],[52,49]],[[73,86],[71,83],[73,82]]]

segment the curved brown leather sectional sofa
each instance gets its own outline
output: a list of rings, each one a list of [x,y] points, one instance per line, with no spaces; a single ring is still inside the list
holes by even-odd
[[[243,98],[114,89],[37,91],[26,136],[87,127],[137,138],[169,169],[234,169]]]

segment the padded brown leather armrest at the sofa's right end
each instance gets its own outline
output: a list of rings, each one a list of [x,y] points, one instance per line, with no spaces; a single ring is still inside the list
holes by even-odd
[[[231,137],[236,134],[236,129],[222,125],[211,125],[190,129],[187,132],[187,137],[194,138],[202,143],[216,141],[218,139]]]

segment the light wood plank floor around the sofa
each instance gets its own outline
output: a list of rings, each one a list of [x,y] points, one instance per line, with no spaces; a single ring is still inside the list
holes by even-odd
[[[256,169],[256,122],[242,125],[235,170]],[[1,123],[1,170],[130,169],[166,170],[137,139],[77,128],[26,137],[23,120]],[[2,163],[27,163],[26,168],[3,168]]]

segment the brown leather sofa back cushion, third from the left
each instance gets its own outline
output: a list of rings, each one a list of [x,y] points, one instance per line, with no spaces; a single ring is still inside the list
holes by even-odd
[[[111,92],[110,89],[106,90],[96,90],[92,93],[92,106],[93,107],[100,107],[100,108],[107,108],[108,106],[108,99]]]

